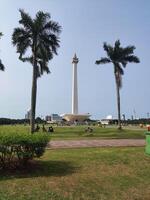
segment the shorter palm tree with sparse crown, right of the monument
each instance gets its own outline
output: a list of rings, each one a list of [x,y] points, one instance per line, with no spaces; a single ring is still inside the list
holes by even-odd
[[[121,114],[120,114],[120,89],[122,87],[122,75],[127,63],[139,63],[140,60],[134,55],[134,46],[121,47],[120,41],[117,40],[114,46],[104,42],[104,50],[107,57],[102,57],[96,61],[96,64],[112,63],[114,66],[114,75],[117,89],[117,109],[118,109],[118,128],[121,129]]]

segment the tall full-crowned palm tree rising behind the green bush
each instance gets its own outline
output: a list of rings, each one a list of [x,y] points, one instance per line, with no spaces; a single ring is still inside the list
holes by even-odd
[[[35,130],[35,111],[37,78],[44,72],[49,73],[48,62],[57,55],[59,47],[59,33],[61,26],[51,20],[49,13],[39,11],[32,19],[23,10],[19,10],[21,27],[15,28],[12,34],[12,43],[17,48],[19,59],[30,62],[33,66],[32,91],[31,91],[31,133]],[[30,56],[26,56],[30,53]],[[23,57],[24,56],[24,57]]]

